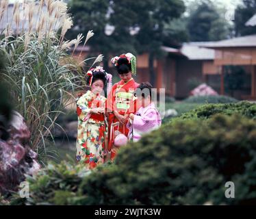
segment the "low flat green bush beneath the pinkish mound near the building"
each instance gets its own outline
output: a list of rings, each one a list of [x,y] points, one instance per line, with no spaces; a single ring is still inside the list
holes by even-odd
[[[238,102],[237,99],[233,99],[230,96],[222,95],[206,95],[206,96],[190,96],[185,99],[185,103],[235,103]]]

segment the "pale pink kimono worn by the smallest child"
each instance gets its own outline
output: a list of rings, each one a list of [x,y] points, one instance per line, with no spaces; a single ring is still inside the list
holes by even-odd
[[[129,120],[127,128],[129,129],[128,138],[133,142],[138,142],[142,135],[157,129],[162,124],[161,116],[155,104],[151,103],[147,107],[140,107],[133,120]]]

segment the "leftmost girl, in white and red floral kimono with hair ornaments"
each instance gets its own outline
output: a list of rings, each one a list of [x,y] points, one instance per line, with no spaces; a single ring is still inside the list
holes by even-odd
[[[78,162],[84,162],[92,169],[104,163],[105,140],[107,140],[107,116],[105,116],[105,96],[101,95],[106,82],[105,70],[101,66],[87,73],[87,83],[91,87],[77,99],[77,153]]]

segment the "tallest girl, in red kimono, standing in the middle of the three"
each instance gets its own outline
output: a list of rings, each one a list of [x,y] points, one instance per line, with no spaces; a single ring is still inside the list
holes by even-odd
[[[116,153],[112,150],[114,143],[114,131],[118,130],[128,136],[128,116],[135,113],[138,106],[134,99],[133,92],[138,88],[139,83],[134,81],[132,75],[136,75],[136,57],[131,53],[113,57],[112,63],[116,66],[120,81],[115,83],[107,97],[107,113],[109,142],[108,150],[113,160]],[[111,152],[112,151],[112,152]]]

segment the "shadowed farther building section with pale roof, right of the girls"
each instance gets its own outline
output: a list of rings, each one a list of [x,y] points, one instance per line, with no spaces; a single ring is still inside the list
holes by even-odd
[[[190,94],[190,79],[207,83],[208,75],[217,73],[214,50],[201,48],[204,42],[183,43],[180,49],[162,47],[168,55],[159,61],[157,78],[166,94],[183,99]]]

